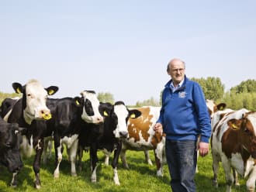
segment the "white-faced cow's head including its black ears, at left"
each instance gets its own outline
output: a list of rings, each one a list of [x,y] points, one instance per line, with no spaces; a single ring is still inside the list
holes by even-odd
[[[51,118],[50,109],[46,105],[47,96],[56,93],[58,87],[44,88],[36,80],[31,80],[24,86],[13,83],[12,87],[16,93],[22,93],[22,110],[26,123],[30,125],[34,119],[48,120]]]

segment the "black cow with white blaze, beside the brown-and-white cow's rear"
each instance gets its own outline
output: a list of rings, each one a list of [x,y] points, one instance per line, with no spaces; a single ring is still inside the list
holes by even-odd
[[[99,106],[104,118],[104,123],[93,125],[85,123],[85,127],[81,129],[78,135],[78,146],[80,153],[78,154],[78,165],[81,165],[82,152],[84,149],[90,151],[90,162],[92,176],[91,181],[97,181],[97,163],[99,162],[97,151],[102,149],[104,153],[109,155],[114,152],[112,159],[113,180],[119,185],[119,177],[117,173],[117,164],[119,153],[122,149],[122,140],[128,138],[127,130],[128,118],[137,118],[141,115],[140,111],[129,110],[123,101],[116,101],[114,105],[110,103],[102,103]]]

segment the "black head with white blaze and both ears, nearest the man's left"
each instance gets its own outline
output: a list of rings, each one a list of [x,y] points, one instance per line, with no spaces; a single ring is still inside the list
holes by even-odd
[[[129,118],[138,118],[141,112],[137,109],[129,110],[123,101],[116,101],[115,105],[102,103],[100,105],[102,115],[106,117],[105,123],[109,126],[115,138],[128,138],[127,122]]]

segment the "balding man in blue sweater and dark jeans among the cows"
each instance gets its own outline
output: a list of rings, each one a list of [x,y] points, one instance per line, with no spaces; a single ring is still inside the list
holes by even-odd
[[[206,100],[199,84],[185,76],[182,60],[171,60],[167,72],[171,80],[164,87],[160,117],[154,130],[166,134],[165,152],[172,191],[193,192],[198,138],[200,156],[209,152],[211,124]]]

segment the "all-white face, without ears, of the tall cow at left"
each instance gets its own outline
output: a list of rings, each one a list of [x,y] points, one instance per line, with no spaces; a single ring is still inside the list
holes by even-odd
[[[25,93],[26,108],[23,111],[25,121],[31,124],[33,119],[50,119],[50,109],[46,105],[48,93],[43,85],[39,81],[29,81]]]

